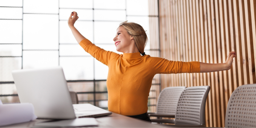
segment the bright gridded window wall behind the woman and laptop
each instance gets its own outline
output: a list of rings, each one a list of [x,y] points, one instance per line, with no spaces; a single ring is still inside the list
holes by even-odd
[[[67,20],[77,12],[79,32],[98,47],[119,54],[113,42],[117,27],[126,20],[139,23],[149,38],[145,53],[159,56],[157,4],[157,0],[0,0],[0,99],[4,104],[19,102],[12,70],[61,66],[79,103],[108,110],[108,66],[80,47]],[[153,80],[148,111],[155,111],[159,77]]]

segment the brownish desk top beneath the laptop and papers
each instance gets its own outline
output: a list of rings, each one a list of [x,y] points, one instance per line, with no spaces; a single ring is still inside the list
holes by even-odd
[[[99,123],[98,126],[88,126],[90,128],[163,128],[160,125],[152,125],[150,122],[143,121],[140,119],[134,119],[128,116],[112,113],[109,116],[102,116],[95,118]],[[6,125],[0,128],[29,128],[34,126],[36,123],[44,122],[47,120],[36,119],[30,122],[24,122],[14,125]],[[79,127],[82,128],[82,127]],[[87,128],[87,127],[84,127]]]

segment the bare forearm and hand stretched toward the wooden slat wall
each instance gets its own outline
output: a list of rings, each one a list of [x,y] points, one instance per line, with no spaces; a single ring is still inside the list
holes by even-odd
[[[229,52],[229,55],[227,56],[227,61],[225,63],[208,64],[200,62],[200,73],[230,70],[234,57],[236,57],[236,52]]]

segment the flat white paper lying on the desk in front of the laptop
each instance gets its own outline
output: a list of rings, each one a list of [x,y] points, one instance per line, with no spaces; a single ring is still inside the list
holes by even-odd
[[[81,126],[97,126],[98,122],[95,118],[76,118],[60,121],[50,121],[35,124],[34,127],[81,127]]]

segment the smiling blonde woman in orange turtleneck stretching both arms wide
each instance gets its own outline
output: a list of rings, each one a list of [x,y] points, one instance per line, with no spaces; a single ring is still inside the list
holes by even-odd
[[[72,17],[73,16],[73,17]],[[108,66],[108,110],[125,116],[150,121],[148,95],[152,79],[157,73],[207,73],[229,70],[235,52],[230,52],[226,63],[207,64],[201,62],[169,61],[164,58],[145,55],[144,47],[148,40],[145,30],[137,23],[123,22],[113,38],[116,50],[105,51],[84,38],[74,27],[79,17],[72,12],[68,25],[83,49]],[[142,55],[140,55],[142,54]]]

